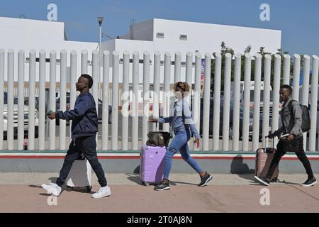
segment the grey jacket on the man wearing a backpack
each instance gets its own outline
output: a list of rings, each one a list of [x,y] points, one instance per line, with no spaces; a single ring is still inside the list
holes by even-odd
[[[292,101],[292,102],[291,102]],[[291,104],[289,104],[291,102]],[[291,105],[291,111],[289,110],[289,106]],[[291,133],[296,135],[296,137],[300,137],[303,135],[303,131],[301,129],[301,122],[302,122],[302,110],[299,106],[298,102],[293,99],[289,99],[284,103],[281,111],[281,127],[274,131],[274,135],[281,135],[282,133]]]

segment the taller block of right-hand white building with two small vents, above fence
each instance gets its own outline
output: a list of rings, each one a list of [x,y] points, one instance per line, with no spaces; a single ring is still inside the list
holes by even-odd
[[[281,31],[278,30],[157,18],[151,21],[152,23],[145,21],[135,24],[133,38],[153,41],[152,50],[161,52],[167,51],[174,54],[179,51],[182,55],[186,55],[188,51],[193,53],[198,51],[204,55],[205,52],[219,52],[223,41],[229,48],[239,53],[243,53],[245,48],[251,45],[252,55],[256,54],[260,47],[265,47],[268,52],[276,52],[278,48],[281,48]],[[153,32],[152,38],[148,37],[150,31]],[[157,38],[157,33],[164,33],[164,38]],[[180,40],[179,35],[187,35],[187,40]]]

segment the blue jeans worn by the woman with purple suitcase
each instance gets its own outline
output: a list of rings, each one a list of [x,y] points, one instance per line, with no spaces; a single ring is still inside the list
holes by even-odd
[[[185,162],[187,162],[198,174],[202,172],[201,167],[199,167],[198,163],[194,160],[193,157],[189,154],[189,145],[187,142],[191,138],[191,131],[185,129],[184,131],[174,132],[175,137],[172,140],[172,143],[167,148],[167,152],[164,157],[164,179],[169,179],[169,172],[172,169],[172,159],[173,156],[179,151],[181,153],[181,157]]]

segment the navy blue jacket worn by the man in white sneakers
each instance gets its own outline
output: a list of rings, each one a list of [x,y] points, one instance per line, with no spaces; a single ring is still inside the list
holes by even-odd
[[[55,118],[72,120],[72,139],[96,135],[99,121],[96,104],[90,92],[77,96],[74,109],[70,111],[57,111]]]

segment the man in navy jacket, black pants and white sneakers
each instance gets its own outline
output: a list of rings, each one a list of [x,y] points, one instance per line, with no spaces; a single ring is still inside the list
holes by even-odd
[[[88,74],[82,74],[79,77],[76,88],[80,92],[74,104],[74,109],[70,111],[57,111],[56,113],[48,114],[52,120],[60,118],[63,120],[72,120],[72,142],[69,145],[69,150],[65,156],[65,162],[60,170],[60,177],[57,178],[56,184],[42,184],[43,189],[48,193],[59,196],[62,185],[69,175],[74,160],[77,160],[83,153],[96,176],[98,177],[101,188],[98,192],[92,194],[93,198],[103,198],[111,195],[111,190],[107,185],[101,163],[96,154],[96,132],[98,131],[98,116],[96,114],[96,104],[89,89],[93,85],[93,79]]]

